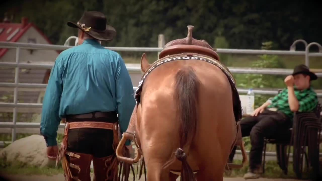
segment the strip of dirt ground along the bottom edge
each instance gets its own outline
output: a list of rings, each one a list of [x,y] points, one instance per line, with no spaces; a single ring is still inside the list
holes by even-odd
[[[3,176],[5,179],[0,177],[0,181],[58,181],[64,180],[64,176],[62,174],[55,176],[45,176],[45,175],[33,175],[33,176],[24,176],[24,175],[5,175]],[[91,176],[93,179],[93,176]],[[140,180],[144,181],[144,177]],[[179,181],[180,179],[177,179]],[[224,178],[224,181],[245,181],[242,177],[234,177],[234,178]],[[296,179],[268,179],[268,178],[259,178],[259,179],[251,179],[251,181],[298,181]],[[301,180],[305,181],[305,180]]]

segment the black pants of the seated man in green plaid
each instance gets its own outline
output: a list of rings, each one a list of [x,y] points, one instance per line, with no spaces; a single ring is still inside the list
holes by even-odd
[[[262,161],[264,137],[274,137],[282,130],[290,128],[291,123],[281,112],[264,110],[258,116],[247,117],[240,122],[242,137],[250,136],[251,151],[249,153],[250,170],[259,168]],[[229,156],[230,162],[234,157],[236,146]]]

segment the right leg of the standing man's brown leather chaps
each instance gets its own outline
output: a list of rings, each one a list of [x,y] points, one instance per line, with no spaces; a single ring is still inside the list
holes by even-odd
[[[115,155],[101,158],[93,158],[94,179],[93,181],[117,181],[118,160]]]

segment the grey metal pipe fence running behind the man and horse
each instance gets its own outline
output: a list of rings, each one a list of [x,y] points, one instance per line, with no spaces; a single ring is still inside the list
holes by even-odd
[[[161,45],[164,43],[160,43]],[[290,48],[290,51],[278,51],[278,50],[245,50],[245,49],[216,49],[218,53],[240,53],[240,54],[276,54],[276,55],[305,55],[308,57],[322,57],[322,51],[319,53],[309,53],[308,48],[304,51],[295,51],[295,44]],[[309,44],[311,45],[311,43]],[[321,45],[319,45],[321,46]],[[19,83],[19,70],[20,68],[42,68],[51,69],[53,64],[37,64],[37,63],[22,63],[20,59],[21,49],[39,49],[39,50],[65,50],[72,46],[61,45],[48,45],[48,44],[30,44],[30,43],[11,43],[0,42],[0,48],[12,48],[16,49],[15,62],[0,62],[0,67],[12,67],[15,68],[14,83],[0,82],[0,87],[12,87],[14,88],[14,101],[13,103],[0,102],[0,107],[13,108],[13,121],[12,122],[0,122],[0,128],[12,128],[12,141],[16,140],[16,128],[39,128],[40,123],[24,123],[17,122],[17,108],[42,108],[41,103],[18,103],[18,88],[46,88],[47,84],[35,84],[35,83]],[[321,46],[322,47],[322,46]],[[160,52],[162,48],[145,48],[145,47],[105,47],[113,51],[132,51],[132,52]],[[306,61],[308,62],[308,61]],[[292,70],[290,69],[257,69],[257,68],[236,68],[228,67],[232,73],[251,73],[251,74],[270,74],[270,75],[289,75]],[[127,66],[128,71],[141,72],[140,67]],[[322,72],[316,73],[318,77],[322,77]],[[136,87],[133,87],[136,90]],[[247,89],[238,89],[240,93],[246,93]],[[254,89],[254,93],[274,95],[278,93],[278,90],[272,89]],[[322,93],[318,93],[319,97],[322,97]],[[59,128],[63,128],[64,125],[60,124]]]

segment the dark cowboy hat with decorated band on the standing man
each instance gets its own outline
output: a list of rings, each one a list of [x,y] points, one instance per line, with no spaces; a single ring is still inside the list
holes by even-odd
[[[97,11],[85,11],[77,23],[68,22],[67,25],[73,28],[79,28],[91,37],[101,40],[110,41],[116,35],[116,30],[106,24],[106,16]]]

